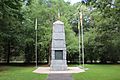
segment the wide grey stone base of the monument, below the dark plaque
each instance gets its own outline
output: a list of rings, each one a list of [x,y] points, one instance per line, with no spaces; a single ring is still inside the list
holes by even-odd
[[[67,63],[66,60],[52,60],[50,65],[51,71],[66,71]]]

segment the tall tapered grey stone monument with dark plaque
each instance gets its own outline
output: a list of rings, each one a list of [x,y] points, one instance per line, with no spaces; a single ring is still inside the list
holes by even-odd
[[[50,70],[67,70],[64,23],[60,20],[53,23]]]

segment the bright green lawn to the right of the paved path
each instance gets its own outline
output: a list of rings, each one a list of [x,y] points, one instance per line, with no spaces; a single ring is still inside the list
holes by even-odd
[[[84,73],[73,74],[74,80],[120,80],[120,65],[86,65]]]

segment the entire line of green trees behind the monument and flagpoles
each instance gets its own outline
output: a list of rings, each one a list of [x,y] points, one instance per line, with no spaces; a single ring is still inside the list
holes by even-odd
[[[35,62],[35,19],[38,19],[38,62],[49,62],[52,24],[65,24],[67,60],[78,63],[77,8],[82,5],[85,61],[120,61],[120,1],[89,1],[71,5],[64,0],[1,0],[0,62]],[[113,7],[111,7],[113,6]]]

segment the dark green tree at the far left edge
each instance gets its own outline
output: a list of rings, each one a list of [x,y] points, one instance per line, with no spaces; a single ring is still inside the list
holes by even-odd
[[[7,63],[12,52],[11,46],[17,42],[20,33],[22,14],[21,1],[0,1],[0,39],[4,48],[4,56]]]

